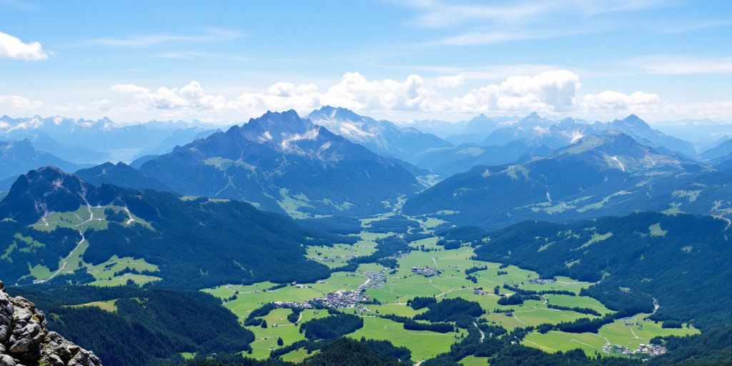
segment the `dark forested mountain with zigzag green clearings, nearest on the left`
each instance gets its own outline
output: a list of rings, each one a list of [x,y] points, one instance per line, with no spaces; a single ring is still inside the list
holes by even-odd
[[[303,245],[340,240],[248,203],[94,187],[53,167],[23,174],[0,201],[0,276],[11,283],[109,280],[119,274],[100,271],[124,258],[179,288],[315,280],[329,271]]]

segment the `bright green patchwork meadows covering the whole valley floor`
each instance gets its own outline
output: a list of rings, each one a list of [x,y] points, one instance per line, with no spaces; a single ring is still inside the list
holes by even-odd
[[[369,255],[376,250],[376,239],[384,238],[389,234],[376,234],[367,231],[368,227],[377,220],[385,220],[390,214],[378,215],[362,219],[362,227],[366,230],[359,234],[359,242],[353,245],[334,244],[332,247],[309,247],[307,256],[319,261],[331,268],[337,268],[347,264],[354,256]],[[427,217],[414,217],[422,225],[422,230],[430,232],[431,228],[442,223],[441,220]],[[608,234],[605,234],[608,236]],[[393,314],[412,317],[426,309],[414,310],[406,305],[409,299],[416,296],[434,296],[436,299],[463,298],[469,301],[478,302],[486,310],[482,317],[490,323],[499,324],[507,329],[517,327],[537,326],[539,324],[558,324],[562,321],[575,321],[579,318],[595,318],[594,315],[586,315],[568,310],[551,309],[547,304],[565,307],[586,307],[601,314],[613,313],[605,305],[596,299],[587,296],[569,296],[548,294],[542,296],[541,300],[527,300],[523,305],[502,306],[498,305],[500,297],[493,294],[494,288],[499,287],[499,292],[510,294],[503,288],[505,283],[513,283],[520,288],[533,291],[562,290],[579,294],[583,288],[589,287],[591,283],[573,280],[568,277],[557,277],[556,282],[548,284],[529,283],[537,279],[536,272],[522,269],[517,266],[506,266],[500,268],[501,264],[475,261],[474,251],[471,247],[460,247],[455,250],[444,250],[436,243],[440,238],[433,236],[427,239],[420,239],[409,243],[414,251],[397,258],[399,266],[397,269],[384,272],[386,280],[382,285],[370,287],[365,291],[367,296],[381,302],[380,305],[363,305],[364,311],[358,312],[364,318],[362,329],[356,330],[348,337],[360,339],[389,340],[395,346],[404,346],[412,352],[412,360],[419,362],[443,352],[449,351],[449,347],[460,340],[465,334],[464,330],[459,333],[440,334],[436,332],[408,331],[402,324],[384,318],[380,314]],[[601,241],[602,235],[595,241]],[[421,248],[430,250],[420,251]],[[430,267],[438,274],[425,277],[412,272],[413,267]],[[477,282],[466,278],[466,269],[473,267],[481,268],[471,275]],[[485,268],[485,269],[482,269]],[[499,273],[500,269],[500,273]],[[209,294],[224,299],[224,306],[239,316],[244,321],[249,313],[268,302],[305,302],[317,297],[324,297],[326,294],[340,290],[357,291],[359,285],[365,283],[366,272],[378,272],[384,268],[378,264],[362,264],[354,272],[335,272],[330,277],[319,280],[316,283],[299,283],[287,285],[283,288],[269,290],[274,283],[256,283],[253,285],[225,285],[217,288],[204,290]],[[478,291],[477,288],[482,288]],[[232,296],[234,299],[231,299]],[[512,310],[512,316],[503,312],[493,310]],[[351,313],[354,310],[344,310]],[[302,340],[299,333],[299,326],[287,320],[291,312],[288,309],[277,309],[266,315],[265,320],[269,327],[264,329],[259,326],[250,326],[248,329],[255,333],[256,340],[252,344],[253,352],[250,356],[257,359],[264,359],[269,356],[270,351],[277,348],[277,339],[282,338],[285,345]],[[315,310],[306,310],[302,313],[301,321],[314,316],[325,316],[326,312],[315,313]],[[644,315],[638,315],[643,318]],[[564,332],[548,332],[545,335],[530,333],[523,344],[540,348],[548,352],[567,351],[581,348],[588,355],[594,355],[597,351],[602,353],[602,346],[605,344],[619,344],[635,349],[640,343],[649,343],[652,337],[657,335],[685,335],[698,332],[696,329],[662,329],[660,324],[650,321],[641,321],[640,325],[627,326],[624,321],[615,321],[600,329],[598,334],[570,334]],[[307,357],[304,348],[292,351],[283,359],[294,362],[302,361]],[[469,356],[460,361],[461,365],[488,365],[485,357]]]

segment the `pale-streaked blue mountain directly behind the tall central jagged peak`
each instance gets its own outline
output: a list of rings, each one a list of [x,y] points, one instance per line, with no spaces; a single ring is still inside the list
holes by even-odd
[[[376,154],[417,163],[420,154],[452,146],[452,143],[414,127],[398,127],[388,121],[359,116],[346,108],[326,105],[307,115],[314,124],[366,146]]]

